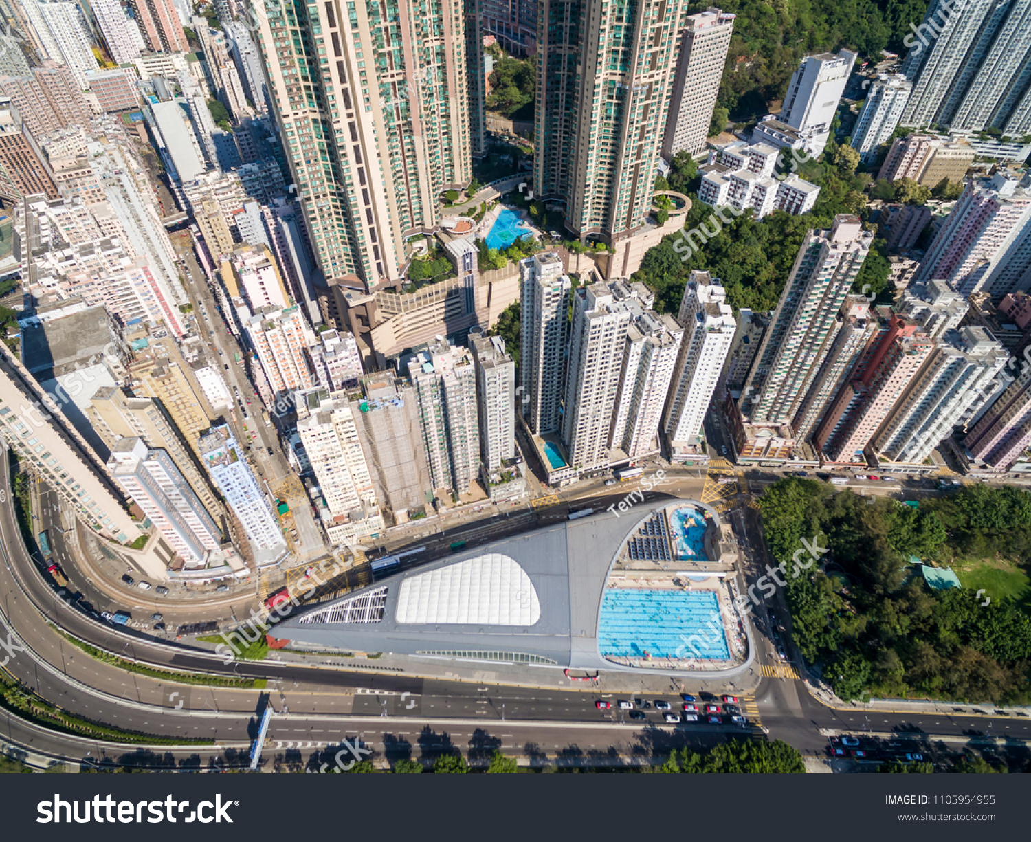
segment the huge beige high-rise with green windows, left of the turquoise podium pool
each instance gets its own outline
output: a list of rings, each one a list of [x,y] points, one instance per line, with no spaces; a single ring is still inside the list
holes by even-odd
[[[257,41],[319,268],[362,292],[397,281],[404,237],[472,177],[463,9],[270,0],[265,12]]]

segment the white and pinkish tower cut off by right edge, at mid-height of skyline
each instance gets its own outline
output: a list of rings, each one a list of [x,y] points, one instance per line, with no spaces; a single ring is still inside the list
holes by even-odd
[[[1031,283],[1031,187],[999,172],[967,184],[920,262],[913,283],[947,280],[996,301]]]

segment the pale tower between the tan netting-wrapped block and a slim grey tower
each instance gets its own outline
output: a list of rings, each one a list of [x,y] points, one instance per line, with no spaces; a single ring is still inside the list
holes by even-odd
[[[434,489],[464,494],[479,474],[476,369],[466,348],[437,337],[408,361]]]

